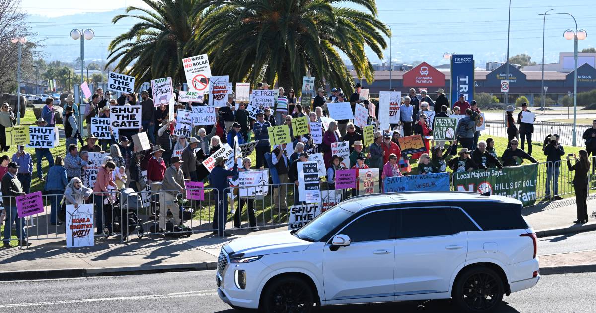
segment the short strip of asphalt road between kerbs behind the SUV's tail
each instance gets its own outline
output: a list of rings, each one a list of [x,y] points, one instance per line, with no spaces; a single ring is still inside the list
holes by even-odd
[[[538,238],[538,256],[596,250],[596,231]]]

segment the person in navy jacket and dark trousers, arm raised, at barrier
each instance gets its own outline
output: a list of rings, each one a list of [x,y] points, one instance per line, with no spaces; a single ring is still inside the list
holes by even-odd
[[[238,156],[240,159],[242,156]],[[225,222],[228,218],[228,193],[229,182],[228,177],[238,175],[238,162],[234,162],[232,171],[225,169],[225,159],[217,157],[215,159],[215,168],[209,173],[209,184],[217,190],[217,209],[213,212],[213,234],[218,234],[219,237],[229,237],[230,234],[225,232]]]

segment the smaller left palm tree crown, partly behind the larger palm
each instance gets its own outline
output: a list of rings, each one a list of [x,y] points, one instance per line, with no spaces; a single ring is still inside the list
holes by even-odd
[[[135,81],[172,76],[184,82],[182,58],[195,49],[193,34],[200,26],[200,13],[209,1],[204,0],[142,0],[149,9],[128,7],[126,14],[113,18],[139,20],[128,32],[110,42],[110,55],[105,68],[116,63],[114,70],[135,76]],[[131,12],[139,14],[130,14]],[[205,13],[207,13],[206,11]],[[131,66],[129,70],[126,68]]]

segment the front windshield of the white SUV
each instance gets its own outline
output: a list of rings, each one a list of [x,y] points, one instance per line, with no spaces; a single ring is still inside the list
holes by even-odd
[[[326,210],[321,215],[316,216],[315,219],[308,222],[304,227],[300,228],[295,235],[304,240],[317,242],[327,235],[333,228],[341,224],[352,215],[352,212],[342,209],[339,206],[333,209]]]

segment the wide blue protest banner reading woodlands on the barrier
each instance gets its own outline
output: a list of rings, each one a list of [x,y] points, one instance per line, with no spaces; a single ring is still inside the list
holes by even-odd
[[[449,191],[449,173],[387,177],[383,181],[383,191]]]

